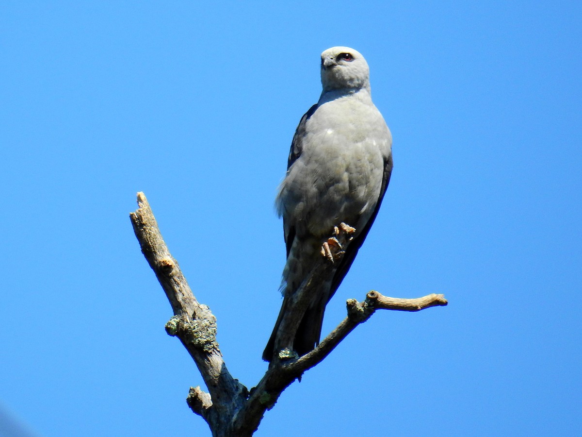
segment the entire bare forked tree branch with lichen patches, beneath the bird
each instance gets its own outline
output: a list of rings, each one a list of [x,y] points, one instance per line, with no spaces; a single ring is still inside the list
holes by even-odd
[[[256,387],[246,387],[230,375],[219,349],[217,323],[208,306],[198,303],[178,262],[169,253],[159,232],[154,214],[143,193],[137,193],[139,209],[130,213],[133,229],[141,251],[158,278],[172,306],[174,316],[166,323],[166,332],[182,341],[208,387],[190,387],[187,403],[194,413],[208,423],[212,435],[251,436],[257,430],[265,411],[274,406],[283,390],[303,372],[317,365],[345,339],[347,334],[365,322],[377,309],[420,311],[431,306],[446,305],[442,294],[430,294],[417,299],[386,297],[377,291],[368,292],[362,302],[349,299],[347,317],[310,353],[297,357],[292,344],[299,322],[318,288],[333,274],[333,262],[342,253],[331,253],[329,248],[320,262],[294,294],[292,305],[282,320],[275,341],[275,359]],[[343,229],[342,226],[340,228]],[[349,234],[334,234],[340,245],[349,242]]]

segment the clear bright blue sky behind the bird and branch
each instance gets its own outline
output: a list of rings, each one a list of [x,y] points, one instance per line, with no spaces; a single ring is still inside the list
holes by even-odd
[[[281,305],[276,186],[321,51],[347,45],[395,169],[324,330],[371,289],[450,303],[376,313],[256,435],[582,434],[579,2],[0,8],[2,417],[48,437],[210,435],[135,194],[254,386]]]

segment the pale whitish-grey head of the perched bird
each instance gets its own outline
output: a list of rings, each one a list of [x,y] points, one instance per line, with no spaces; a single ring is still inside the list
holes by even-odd
[[[332,47],[321,54],[321,84],[324,93],[338,89],[370,88],[370,68],[359,51]]]

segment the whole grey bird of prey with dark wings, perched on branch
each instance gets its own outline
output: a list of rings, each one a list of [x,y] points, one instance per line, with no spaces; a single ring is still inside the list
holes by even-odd
[[[301,121],[291,144],[287,174],[275,200],[283,217],[287,263],[283,305],[262,358],[271,361],[275,335],[289,303],[321,255],[334,226],[356,231],[333,277],[301,320],[293,348],[299,356],[320,341],[325,306],[364,242],[392,172],[392,135],[370,96],[370,69],[349,47],[321,54],[320,100]]]

